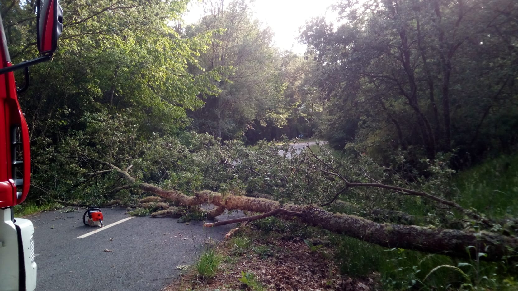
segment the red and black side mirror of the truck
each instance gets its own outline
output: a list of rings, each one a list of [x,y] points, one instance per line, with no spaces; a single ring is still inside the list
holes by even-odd
[[[63,30],[63,9],[58,0],[38,0],[36,6],[38,51],[40,54],[52,54]]]

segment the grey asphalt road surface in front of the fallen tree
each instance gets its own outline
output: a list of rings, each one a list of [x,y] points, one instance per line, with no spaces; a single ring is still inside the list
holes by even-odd
[[[123,208],[102,210],[106,226],[130,217]],[[83,225],[83,212],[61,210],[25,217],[35,227],[36,290],[160,290],[180,274],[176,266],[194,263],[204,241],[221,241],[235,227],[204,228],[202,222],[185,224],[146,216],[77,238],[102,229]]]

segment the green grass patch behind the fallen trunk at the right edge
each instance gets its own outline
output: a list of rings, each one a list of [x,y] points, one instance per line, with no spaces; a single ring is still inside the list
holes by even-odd
[[[518,154],[502,155],[459,172],[453,187],[463,207],[475,208],[493,218],[516,215]]]

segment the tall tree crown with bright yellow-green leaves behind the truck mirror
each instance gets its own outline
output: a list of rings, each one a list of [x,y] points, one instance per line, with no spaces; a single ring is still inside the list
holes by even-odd
[[[11,57],[19,62],[36,55],[35,20],[28,17],[34,16],[35,1],[13,2],[20,11],[6,11],[2,17]],[[182,38],[166,24],[180,16],[186,3],[62,3],[59,49],[52,63],[32,69],[36,85],[26,93],[31,98],[22,98],[33,136],[46,135],[65,117],[73,126],[83,112],[99,110],[138,108],[133,114],[151,132],[181,127],[186,117],[183,108],[202,105],[196,96],[210,89],[205,75],[187,71],[189,63],[196,64],[194,57],[206,47],[208,36]],[[74,114],[68,118],[70,113]]]

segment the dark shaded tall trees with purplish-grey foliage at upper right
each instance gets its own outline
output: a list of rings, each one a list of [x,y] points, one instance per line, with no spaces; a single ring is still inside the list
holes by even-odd
[[[316,19],[301,39],[320,63],[316,83],[328,115],[354,123],[345,127],[357,127],[355,141],[378,152],[418,146],[434,157],[516,140],[484,126],[516,108],[513,1],[341,1],[336,8],[336,30]]]

